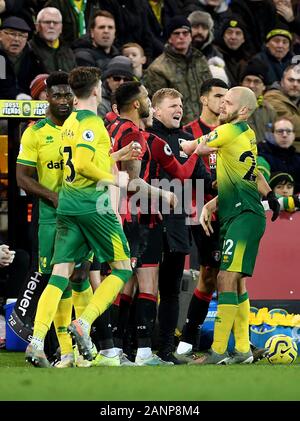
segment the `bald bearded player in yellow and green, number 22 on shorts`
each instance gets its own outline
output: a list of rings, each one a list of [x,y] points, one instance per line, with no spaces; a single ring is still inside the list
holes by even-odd
[[[202,144],[203,155],[217,151],[218,196],[205,205],[201,224],[209,234],[211,213],[218,207],[223,244],[217,278],[218,311],[214,340],[209,352],[193,362],[196,364],[253,361],[245,276],[253,273],[259,242],[265,230],[259,193],[267,196],[274,219],[280,209],[274,193],[257,169],[255,133],[247,124],[255,109],[256,98],[250,89],[232,88],[222,101],[221,125],[194,142],[182,144],[186,153],[190,153],[197,143]],[[235,350],[230,356],[227,345],[232,329]]]

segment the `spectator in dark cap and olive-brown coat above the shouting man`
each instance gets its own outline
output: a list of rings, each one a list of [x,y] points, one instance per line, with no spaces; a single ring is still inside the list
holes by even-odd
[[[168,43],[148,67],[145,86],[149,95],[168,87],[183,95],[183,124],[200,114],[199,96],[204,80],[211,78],[206,58],[192,47],[191,24],[183,16],[173,17],[167,28]]]

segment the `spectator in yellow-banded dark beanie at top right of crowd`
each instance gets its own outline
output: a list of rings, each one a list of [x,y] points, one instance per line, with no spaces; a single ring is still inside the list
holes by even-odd
[[[268,67],[268,83],[279,82],[285,68],[290,64],[292,53],[292,34],[287,25],[277,24],[266,36],[262,51],[254,58]]]

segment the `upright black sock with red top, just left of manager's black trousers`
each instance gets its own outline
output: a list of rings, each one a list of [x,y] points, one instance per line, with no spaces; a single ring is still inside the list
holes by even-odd
[[[136,336],[139,348],[152,348],[152,331],[156,319],[156,297],[139,293],[136,303]]]

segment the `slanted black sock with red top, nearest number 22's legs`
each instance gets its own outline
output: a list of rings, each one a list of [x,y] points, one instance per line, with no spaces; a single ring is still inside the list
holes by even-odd
[[[210,301],[211,295],[203,294],[195,289],[182,329],[181,341],[192,345],[195,344],[198,327],[203,324],[206,318]]]

